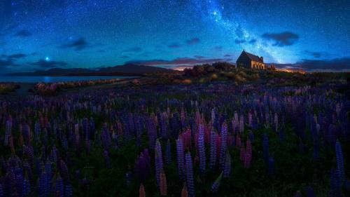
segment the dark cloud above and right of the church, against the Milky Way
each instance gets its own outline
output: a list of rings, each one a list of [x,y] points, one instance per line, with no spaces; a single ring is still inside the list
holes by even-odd
[[[265,33],[262,38],[274,41],[273,46],[291,46],[299,39],[299,35],[293,32]]]

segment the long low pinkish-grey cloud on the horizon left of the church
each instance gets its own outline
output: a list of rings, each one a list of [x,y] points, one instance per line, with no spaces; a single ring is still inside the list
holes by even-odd
[[[189,58],[189,57],[179,57],[174,60],[132,60],[125,62],[125,64],[141,64],[145,66],[165,66],[172,65],[175,66],[193,66],[196,64],[211,64],[214,62],[230,62],[232,59],[228,58],[214,58],[214,59],[197,59],[197,58]]]

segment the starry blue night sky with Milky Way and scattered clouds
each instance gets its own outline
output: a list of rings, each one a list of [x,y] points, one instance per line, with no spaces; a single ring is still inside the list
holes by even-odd
[[[350,70],[349,0],[1,0],[0,72],[136,63],[182,69],[242,50]]]

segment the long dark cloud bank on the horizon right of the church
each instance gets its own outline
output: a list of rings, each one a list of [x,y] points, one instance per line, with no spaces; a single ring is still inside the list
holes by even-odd
[[[302,60],[295,64],[276,64],[280,69],[302,69],[306,72],[339,72],[350,71],[350,57],[332,60]]]

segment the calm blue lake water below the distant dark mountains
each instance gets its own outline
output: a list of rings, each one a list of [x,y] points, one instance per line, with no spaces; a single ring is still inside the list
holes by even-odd
[[[90,81],[97,79],[128,79],[134,76],[0,76],[0,82],[54,83],[65,81]]]

